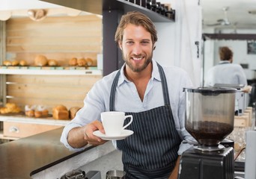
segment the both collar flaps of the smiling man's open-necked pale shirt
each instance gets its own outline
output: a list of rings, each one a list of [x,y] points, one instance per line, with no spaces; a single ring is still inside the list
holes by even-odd
[[[159,75],[159,69],[156,63],[156,60],[152,59],[152,64],[153,64],[153,71],[152,71],[152,76],[151,79],[156,79],[157,81],[161,81],[160,75]],[[120,86],[121,84],[123,84],[124,82],[129,82],[129,80],[127,79],[127,77],[124,75],[124,65],[121,67],[121,73],[120,73],[120,77],[118,80],[118,86]]]

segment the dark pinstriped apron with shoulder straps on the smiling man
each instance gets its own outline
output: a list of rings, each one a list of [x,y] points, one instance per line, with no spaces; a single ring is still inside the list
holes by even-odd
[[[168,178],[177,160],[181,139],[171,113],[165,73],[162,66],[157,65],[165,105],[140,113],[126,113],[133,116],[133,122],[127,129],[134,131],[134,134],[117,141],[117,146],[122,151],[126,178]],[[112,84],[110,111],[115,110],[115,91],[119,76],[120,70]],[[125,124],[127,122],[129,120]]]

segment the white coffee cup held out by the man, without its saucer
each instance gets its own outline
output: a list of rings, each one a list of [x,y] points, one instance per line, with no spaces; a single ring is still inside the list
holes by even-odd
[[[127,125],[124,126],[124,120],[130,118]],[[120,136],[121,132],[132,123],[132,115],[125,116],[124,112],[108,111],[101,113],[101,121],[106,136]]]

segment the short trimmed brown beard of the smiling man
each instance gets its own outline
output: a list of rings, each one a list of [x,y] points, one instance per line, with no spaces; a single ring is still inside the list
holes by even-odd
[[[130,61],[129,61],[130,57],[129,56],[125,57],[123,51],[122,51],[122,56],[123,56],[124,62],[127,64],[127,66],[129,66],[129,68],[132,69],[132,72],[142,72],[144,69],[147,68],[148,64],[152,62],[153,53],[151,53],[150,56],[148,56],[148,57],[146,55],[144,56],[146,58],[146,60],[144,61],[142,66],[132,65],[132,63],[130,63]],[[140,56],[138,55],[136,57],[140,57]]]

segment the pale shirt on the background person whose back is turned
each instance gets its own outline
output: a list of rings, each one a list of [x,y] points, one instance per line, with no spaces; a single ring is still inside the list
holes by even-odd
[[[214,84],[243,84],[246,86],[246,74],[239,64],[223,60],[207,72],[204,86],[213,87]]]

